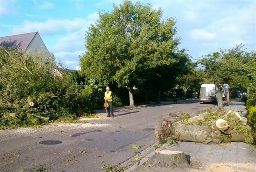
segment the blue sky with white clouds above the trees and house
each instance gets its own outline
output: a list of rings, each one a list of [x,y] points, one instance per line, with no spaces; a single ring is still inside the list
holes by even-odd
[[[138,0],[132,0],[136,2]],[[85,33],[98,11],[121,0],[0,0],[0,37],[39,32],[49,52],[68,69],[79,66]],[[203,55],[243,43],[256,51],[256,0],[140,0],[177,20],[179,48],[195,62]]]

